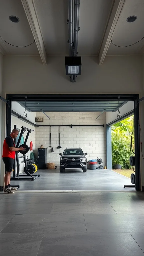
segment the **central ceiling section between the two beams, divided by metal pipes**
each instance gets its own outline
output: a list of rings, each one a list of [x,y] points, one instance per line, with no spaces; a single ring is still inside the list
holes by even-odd
[[[68,1],[34,0],[48,55],[69,54]],[[112,0],[80,0],[78,52],[98,55]]]

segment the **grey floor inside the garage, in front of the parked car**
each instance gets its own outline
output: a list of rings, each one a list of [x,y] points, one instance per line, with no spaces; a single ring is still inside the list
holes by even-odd
[[[11,185],[20,185],[19,190],[129,190],[124,185],[132,185],[129,178],[112,170],[59,169],[38,170],[41,176],[34,181],[16,180]],[[130,188],[132,190],[132,188]]]

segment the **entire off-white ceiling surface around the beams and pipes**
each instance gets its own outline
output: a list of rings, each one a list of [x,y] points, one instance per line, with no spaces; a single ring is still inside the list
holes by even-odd
[[[26,1],[26,0],[23,0]],[[79,56],[98,55],[104,38],[114,0],[80,0],[78,52]],[[124,1],[124,0],[123,0]],[[30,0],[29,0],[30,2]],[[36,17],[47,55],[65,56],[68,50],[67,0],[33,0]],[[116,23],[112,41],[119,46],[135,43],[144,36],[144,0],[125,0]],[[18,23],[9,16],[19,18]],[[136,15],[137,20],[126,19]],[[20,0],[0,1],[0,36],[11,44],[24,46],[34,41],[25,10]],[[0,39],[4,55],[39,55],[36,43],[25,48],[10,46]],[[143,54],[144,40],[134,46],[119,48],[110,43],[107,55]]]

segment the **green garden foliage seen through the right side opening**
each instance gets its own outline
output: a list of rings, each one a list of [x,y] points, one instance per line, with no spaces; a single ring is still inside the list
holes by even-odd
[[[112,165],[120,164],[122,169],[129,169],[130,137],[133,130],[133,116],[111,127]],[[134,136],[134,135],[133,135]],[[134,146],[133,146],[134,150]]]

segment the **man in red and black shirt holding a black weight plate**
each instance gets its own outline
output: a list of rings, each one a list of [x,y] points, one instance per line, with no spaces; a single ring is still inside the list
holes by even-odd
[[[13,170],[14,159],[15,159],[15,152],[16,151],[25,151],[25,147],[16,148],[14,143],[14,138],[16,138],[19,134],[17,129],[14,129],[10,135],[8,135],[4,140],[3,145],[3,162],[5,164],[6,174],[5,174],[5,188],[4,193],[6,194],[13,194],[17,188],[13,188],[10,185],[11,180],[11,173]]]

